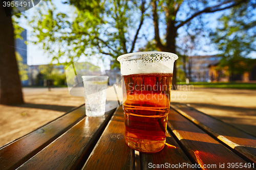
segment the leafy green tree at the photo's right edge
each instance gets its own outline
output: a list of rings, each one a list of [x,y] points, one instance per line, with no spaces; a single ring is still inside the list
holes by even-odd
[[[230,81],[236,80],[237,74],[252,69],[254,62],[249,55],[256,51],[255,8],[256,3],[249,2],[223,14],[219,18],[222,25],[211,35],[222,57],[217,69],[226,67]]]

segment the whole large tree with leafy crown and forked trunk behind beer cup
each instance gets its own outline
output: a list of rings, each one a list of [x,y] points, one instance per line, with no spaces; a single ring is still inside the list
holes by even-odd
[[[179,29],[186,27],[198,33],[204,25],[200,19],[202,14],[246,2],[248,0],[70,0],[65,3],[75,7],[71,16],[56,12],[52,2],[48,1],[41,3],[40,12],[33,17],[31,24],[37,37],[34,42],[41,42],[57,61],[69,57],[68,61],[72,63],[82,55],[95,53],[116,59],[121,54],[132,53],[138,40],[150,37],[145,32],[141,33],[145,20],[152,23],[157,49],[176,53]],[[119,66],[119,63],[116,61],[113,66]],[[173,84],[176,84],[176,66]]]

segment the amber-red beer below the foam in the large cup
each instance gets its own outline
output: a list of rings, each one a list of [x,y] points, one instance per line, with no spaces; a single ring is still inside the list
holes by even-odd
[[[164,147],[173,74],[123,76],[125,141],[140,152]]]

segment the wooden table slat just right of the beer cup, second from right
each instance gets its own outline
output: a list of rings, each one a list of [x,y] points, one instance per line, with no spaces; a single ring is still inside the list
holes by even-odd
[[[228,163],[247,163],[173,109],[170,109],[167,127],[176,135],[190,159],[206,166],[203,169],[221,169],[219,165],[223,163],[224,169]],[[207,168],[207,165],[216,167]]]

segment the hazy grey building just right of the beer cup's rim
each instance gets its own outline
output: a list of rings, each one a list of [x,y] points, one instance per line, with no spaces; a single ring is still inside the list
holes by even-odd
[[[221,57],[216,55],[188,57],[186,75],[192,82],[209,82],[209,65],[219,63],[220,59]]]

